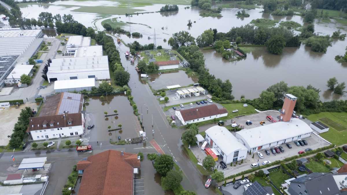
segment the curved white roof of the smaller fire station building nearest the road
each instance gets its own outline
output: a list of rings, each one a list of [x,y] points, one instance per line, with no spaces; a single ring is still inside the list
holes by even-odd
[[[238,149],[247,150],[247,148],[225,127],[215,125],[205,132],[226,155]]]

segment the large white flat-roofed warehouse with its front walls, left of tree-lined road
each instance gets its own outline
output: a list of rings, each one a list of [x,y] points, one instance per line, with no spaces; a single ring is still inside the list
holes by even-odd
[[[108,57],[69,57],[53,59],[47,72],[48,82],[69,79],[110,79]]]

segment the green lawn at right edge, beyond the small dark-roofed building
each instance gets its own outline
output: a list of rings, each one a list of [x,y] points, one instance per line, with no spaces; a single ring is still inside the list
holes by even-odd
[[[329,126],[328,132],[320,134],[324,139],[336,145],[347,143],[347,112],[321,112],[309,115],[307,118]]]

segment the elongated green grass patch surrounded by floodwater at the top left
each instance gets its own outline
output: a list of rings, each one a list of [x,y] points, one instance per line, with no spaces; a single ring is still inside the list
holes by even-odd
[[[134,14],[136,11],[144,11],[142,9],[133,9],[130,7],[110,7],[110,6],[82,6],[72,11],[96,13],[96,14]]]

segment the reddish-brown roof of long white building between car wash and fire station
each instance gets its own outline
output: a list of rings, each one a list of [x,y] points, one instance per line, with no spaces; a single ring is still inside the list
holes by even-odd
[[[217,105],[210,104],[208,106],[201,106],[197,108],[191,108],[186,110],[180,110],[184,121],[191,121],[198,118],[209,117],[218,114],[228,113],[227,109],[218,109]]]

